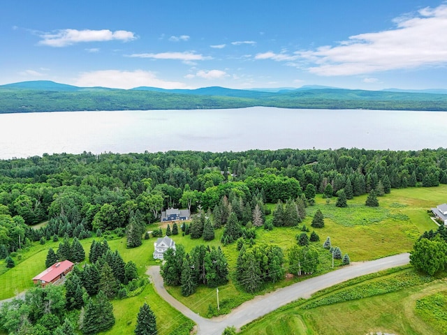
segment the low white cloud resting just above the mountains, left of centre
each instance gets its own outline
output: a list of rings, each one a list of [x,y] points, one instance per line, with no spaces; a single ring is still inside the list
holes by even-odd
[[[150,86],[163,89],[186,88],[182,82],[161,80],[150,71],[134,70],[100,70],[81,73],[73,82],[79,87],[112,87],[116,89],[131,89],[133,87]]]

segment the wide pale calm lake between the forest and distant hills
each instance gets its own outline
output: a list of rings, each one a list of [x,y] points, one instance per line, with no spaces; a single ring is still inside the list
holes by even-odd
[[[0,158],[168,150],[447,147],[447,112],[131,110],[0,114]]]

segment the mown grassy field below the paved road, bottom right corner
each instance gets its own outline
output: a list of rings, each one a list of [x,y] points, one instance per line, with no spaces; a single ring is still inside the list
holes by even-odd
[[[242,330],[241,334],[253,335],[288,335],[288,334],[370,334],[375,332],[386,332],[388,334],[400,335],[437,335],[442,318],[430,314],[429,322],[424,322],[416,310],[416,304],[424,297],[432,297],[438,292],[446,292],[446,280],[422,279],[419,285],[400,287],[394,278],[401,276],[418,276],[413,269],[403,269],[392,274],[385,274],[379,278],[370,278],[358,283],[358,279],[352,281],[352,285],[344,285],[344,288],[332,289],[332,292],[322,294],[316,293],[316,297],[309,300],[301,300],[278,311],[252,322]],[[413,278],[414,279],[414,278]],[[427,283],[424,283],[426,282]],[[307,309],[306,305],[325,300],[326,303],[339,297],[346,297],[345,291],[362,291],[362,288],[391,285],[392,292],[353,299],[339,303],[327,304]],[[331,290],[331,288],[329,289]],[[371,290],[374,292],[374,290]],[[362,292],[363,293],[363,292]],[[361,294],[360,294],[361,295]],[[315,295],[314,295],[315,296]],[[337,300],[337,299],[335,299]],[[444,315],[446,306],[439,306]],[[444,320],[445,322],[445,320]]]

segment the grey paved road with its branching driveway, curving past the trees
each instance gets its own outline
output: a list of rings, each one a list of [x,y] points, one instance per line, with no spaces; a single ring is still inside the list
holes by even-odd
[[[174,299],[166,291],[163,285],[163,278],[160,276],[160,267],[149,267],[147,274],[151,276],[156,292],[168,301],[168,303],[178,311],[186,315],[198,326],[198,335],[221,335],[223,329],[227,326],[234,325],[240,328],[247,323],[268,314],[275,309],[284,306],[299,298],[308,298],[312,293],[323,288],[329,288],[343,281],[347,281],[365,274],[372,274],[376,271],[389,269],[391,267],[399,267],[409,263],[409,253],[401,253],[400,255],[372,260],[369,262],[358,262],[348,267],[343,267],[328,274],[318,277],[309,278],[300,283],[290,285],[286,288],[279,288],[267,295],[256,297],[250,301],[235,308],[230,314],[220,316],[214,319],[205,319],[191,311],[176,299]]]

